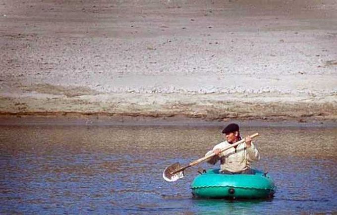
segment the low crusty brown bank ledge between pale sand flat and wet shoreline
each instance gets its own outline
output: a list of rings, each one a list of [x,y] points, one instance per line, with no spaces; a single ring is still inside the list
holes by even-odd
[[[39,99],[1,98],[1,115],[109,115],[138,117],[179,117],[200,120],[261,119],[266,121],[336,121],[336,104],[331,102],[266,102],[268,97],[238,95],[116,94],[95,96],[64,95]],[[130,103],[130,101],[132,101]],[[5,108],[4,108],[5,107]],[[10,111],[5,111],[9,109]]]

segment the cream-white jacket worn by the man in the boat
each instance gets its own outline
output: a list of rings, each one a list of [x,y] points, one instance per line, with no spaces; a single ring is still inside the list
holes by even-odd
[[[230,144],[227,141],[224,141],[216,145],[213,150],[223,149],[228,146],[230,146]],[[206,156],[213,153],[213,150],[206,153]],[[251,143],[249,148],[247,148],[246,143],[240,143],[237,145],[236,149],[234,149],[234,147],[227,149],[225,152],[221,153],[220,156],[214,156],[207,162],[215,164],[219,160],[221,161],[221,171],[240,172],[250,168],[250,163],[252,161],[259,161],[260,154],[253,143]]]

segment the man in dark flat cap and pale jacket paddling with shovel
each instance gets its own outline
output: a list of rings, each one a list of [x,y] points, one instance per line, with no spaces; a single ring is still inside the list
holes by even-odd
[[[222,133],[225,134],[226,141],[219,143],[212,151],[206,153],[206,156],[213,152],[216,154],[208,162],[215,164],[220,160],[220,172],[223,174],[254,174],[250,163],[252,161],[259,161],[260,154],[252,143],[252,139],[246,136],[244,143],[240,143],[220,153],[221,149],[241,140],[239,126],[235,123],[228,124]]]

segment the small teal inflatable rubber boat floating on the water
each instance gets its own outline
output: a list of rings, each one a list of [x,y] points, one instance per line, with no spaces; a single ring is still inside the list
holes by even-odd
[[[252,199],[272,198],[276,191],[268,173],[253,169],[254,174],[221,174],[211,169],[192,182],[192,194],[199,198]]]

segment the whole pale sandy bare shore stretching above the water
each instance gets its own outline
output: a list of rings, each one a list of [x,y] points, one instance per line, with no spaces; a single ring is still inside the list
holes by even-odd
[[[2,0],[0,112],[337,121],[336,0]]]

